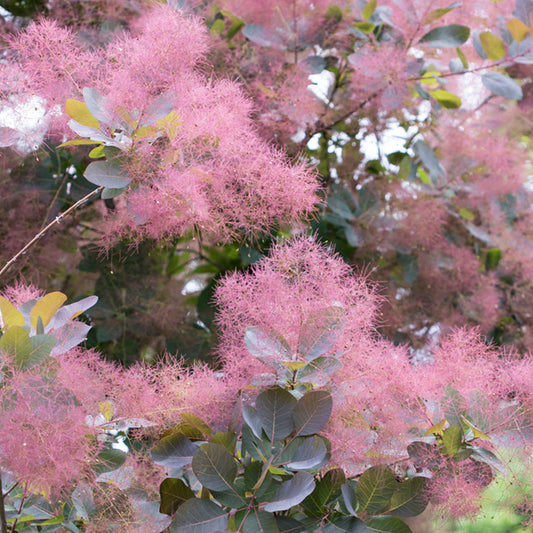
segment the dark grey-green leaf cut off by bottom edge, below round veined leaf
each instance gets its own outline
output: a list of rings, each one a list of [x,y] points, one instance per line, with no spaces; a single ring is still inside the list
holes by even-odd
[[[171,533],[214,533],[224,531],[227,514],[210,500],[198,498],[180,505],[170,524]]]

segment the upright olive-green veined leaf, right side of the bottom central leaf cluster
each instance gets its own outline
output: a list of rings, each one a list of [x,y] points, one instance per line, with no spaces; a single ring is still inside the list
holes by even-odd
[[[373,466],[365,470],[355,489],[359,510],[376,514],[385,509],[397,484],[392,470],[386,465]]]

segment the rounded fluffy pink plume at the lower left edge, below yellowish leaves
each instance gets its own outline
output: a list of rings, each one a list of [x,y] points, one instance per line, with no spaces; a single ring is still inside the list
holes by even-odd
[[[50,494],[88,474],[94,431],[60,379],[16,373],[0,390],[0,403],[0,464],[19,482]]]

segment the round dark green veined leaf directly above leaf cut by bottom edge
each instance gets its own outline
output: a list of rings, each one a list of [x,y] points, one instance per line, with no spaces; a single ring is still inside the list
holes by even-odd
[[[194,454],[192,470],[200,483],[211,490],[233,490],[237,463],[228,450],[220,444],[204,444]]]

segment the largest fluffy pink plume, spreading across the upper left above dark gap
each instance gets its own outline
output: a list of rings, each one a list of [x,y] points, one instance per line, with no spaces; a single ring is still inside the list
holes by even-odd
[[[200,19],[158,6],[99,51],[83,50],[48,21],[11,42],[25,75],[39,73],[30,90],[50,109],[56,106],[54,112],[66,98],[80,99],[85,87],[100,91],[102,113],[115,119],[124,110],[146,117],[162,97],[173,108],[171,124],[157,140],[141,137],[124,145],[129,148],[121,164],[139,186],[124,193],[127,205],[118,201],[105,242],[190,231],[229,239],[292,223],[314,209],[314,173],[304,164],[290,165],[260,139],[237,84],[200,74],[208,39]],[[64,114],[61,120],[64,125]]]

